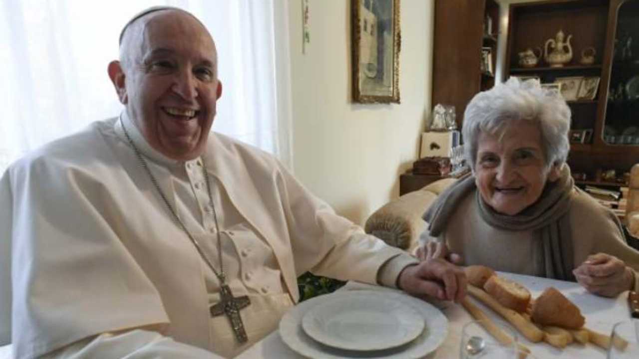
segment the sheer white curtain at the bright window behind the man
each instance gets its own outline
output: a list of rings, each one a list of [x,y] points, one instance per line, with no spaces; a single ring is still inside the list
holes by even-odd
[[[215,39],[224,91],[213,130],[292,167],[286,1],[0,1],[0,174],[27,151],[119,114],[107,64],[127,20],[159,4],[192,12]]]

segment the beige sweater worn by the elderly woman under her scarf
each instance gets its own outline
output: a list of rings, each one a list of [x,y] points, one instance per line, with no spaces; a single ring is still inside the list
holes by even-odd
[[[589,195],[573,190],[568,212],[573,232],[574,266],[580,266],[590,254],[604,252],[618,257],[635,270],[635,289],[639,289],[639,252],[628,247],[615,223],[615,215]],[[423,233],[420,241],[445,241],[459,254],[465,265],[483,264],[498,271],[541,275],[537,256],[543,256],[534,244],[532,231],[507,231],[484,222],[475,192],[471,192],[452,215],[440,238]]]

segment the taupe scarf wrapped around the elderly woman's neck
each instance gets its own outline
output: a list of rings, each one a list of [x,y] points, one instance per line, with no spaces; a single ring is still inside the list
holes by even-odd
[[[475,177],[468,175],[437,197],[422,216],[429,224],[431,236],[439,236],[459,202],[466,195],[475,192],[481,217],[492,227],[507,231],[534,231],[539,253],[543,253],[543,256],[536,258],[537,268],[542,268],[544,277],[575,281],[573,238],[567,214],[571,206],[571,192],[580,189],[574,187],[568,165],[564,164],[557,181],[546,183],[537,202],[514,216],[497,213],[484,202],[476,188]]]

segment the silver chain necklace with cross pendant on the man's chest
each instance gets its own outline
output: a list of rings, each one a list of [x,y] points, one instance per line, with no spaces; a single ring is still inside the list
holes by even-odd
[[[140,164],[142,165],[142,167],[144,167],[144,170],[149,175],[149,178],[151,179],[151,183],[153,183],[153,187],[155,187],[155,189],[158,191],[158,193],[162,197],[164,204],[166,204],[167,208],[169,208],[169,212],[171,212],[175,221],[178,222],[178,224],[180,224],[180,227],[183,229],[184,233],[186,233],[187,236],[189,236],[191,243],[193,243],[193,245],[196,247],[200,257],[204,259],[204,262],[206,262],[206,264],[208,265],[208,268],[211,268],[213,273],[215,273],[215,277],[217,277],[220,280],[220,302],[210,307],[209,310],[210,310],[211,316],[215,317],[215,316],[221,316],[222,314],[225,314],[228,317],[229,321],[231,321],[231,328],[233,329],[233,332],[235,333],[235,339],[240,343],[247,342],[249,338],[246,334],[246,331],[244,330],[244,323],[242,322],[242,317],[240,317],[240,309],[249,306],[250,300],[248,296],[234,297],[233,292],[231,292],[231,288],[228,286],[228,284],[226,284],[226,274],[224,273],[224,263],[222,263],[222,239],[220,238],[220,227],[217,224],[217,213],[215,211],[215,206],[213,205],[213,196],[211,195],[211,183],[208,177],[208,171],[206,171],[206,163],[204,162],[204,160],[201,161],[202,168],[204,171],[204,179],[206,180],[206,190],[208,191],[208,199],[211,202],[211,208],[213,209],[213,219],[215,220],[215,231],[217,233],[217,250],[218,250],[219,259],[220,259],[220,271],[215,270],[215,268],[213,267],[213,263],[211,263],[211,261],[208,259],[206,254],[204,254],[204,251],[200,247],[199,243],[197,243],[197,240],[187,230],[186,225],[184,225],[184,222],[182,222],[182,220],[178,216],[178,212],[174,210],[173,207],[171,207],[171,203],[167,199],[166,195],[164,195],[164,192],[162,192],[162,188],[160,188],[160,185],[158,185],[158,181],[157,179],[155,179],[155,176],[153,176],[151,169],[149,169],[149,165],[144,159],[144,156],[142,156],[142,153],[140,152],[139,149],[137,149],[137,146],[135,146],[135,143],[133,142],[131,137],[128,135],[127,128],[125,128],[124,123],[122,123],[121,120],[120,120],[120,123],[122,125],[122,129],[124,130],[124,134],[127,137],[128,143],[133,148],[133,151],[135,152],[135,156],[139,160]]]

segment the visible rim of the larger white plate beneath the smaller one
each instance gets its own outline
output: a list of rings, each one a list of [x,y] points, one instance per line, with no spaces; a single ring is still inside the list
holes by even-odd
[[[389,300],[403,302],[419,312],[419,316],[426,323],[426,328],[412,342],[397,348],[378,351],[348,351],[332,348],[316,342],[304,333],[302,318],[304,314],[319,303],[327,300],[327,296],[318,296],[302,302],[291,308],[284,314],[279,325],[279,333],[282,341],[293,351],[308,358],[370,358],[370,359],[418,359],[435,351],[448,332],[448,319],[433,307],[433,305],[401,293],[383,293],[380,291],[341,291],[328,294],[331,298],[350,296],[352,294],[365,293],[369,296],[385,296]]]

